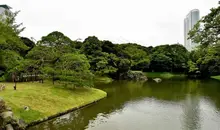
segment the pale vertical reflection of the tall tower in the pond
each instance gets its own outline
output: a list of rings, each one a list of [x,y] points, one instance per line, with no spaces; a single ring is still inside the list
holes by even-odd
[[[200,100],[197,95],[187,95],[183,103],[182,129],[198,130],[201,128]]]

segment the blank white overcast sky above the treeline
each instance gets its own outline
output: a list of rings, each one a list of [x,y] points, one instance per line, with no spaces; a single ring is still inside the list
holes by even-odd
[[[114,43],[145,46],[181,43],[184,18],[192,9],[200,16],[218,0],[1,0],[15,10],[26,27],[22,36],[39,40],[61,31],[72,40],[97,36]]]

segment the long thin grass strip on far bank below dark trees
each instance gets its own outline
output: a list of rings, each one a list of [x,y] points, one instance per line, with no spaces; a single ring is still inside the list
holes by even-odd
[[[175,74],[169,72],[147,72],[146,75],[148,78],[164,78],[164,79],[186,76],[184,74]]]

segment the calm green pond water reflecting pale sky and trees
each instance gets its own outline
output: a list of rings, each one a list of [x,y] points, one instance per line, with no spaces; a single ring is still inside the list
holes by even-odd
[[[29,129],[220,130],[217,80],[118,81],[96,87],[108,97]]]

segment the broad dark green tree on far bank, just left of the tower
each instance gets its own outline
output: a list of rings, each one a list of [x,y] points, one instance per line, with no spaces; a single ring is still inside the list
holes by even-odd
[[[150,69],[159,72],[185,72],[189,52],[180,44],[161,45],[152,49]]]

